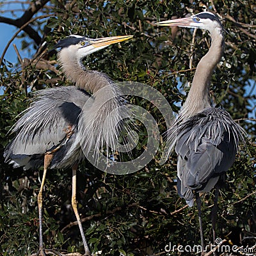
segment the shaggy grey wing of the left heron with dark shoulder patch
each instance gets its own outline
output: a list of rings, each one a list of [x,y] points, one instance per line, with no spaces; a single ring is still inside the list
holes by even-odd
[[[35,155],[57,147],[75,129],[88,93],[76,86],[45,89],[36,92],[35,101],[13,126],[16,132],[4,157]]]

